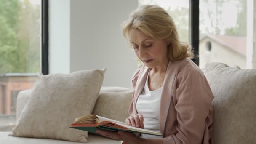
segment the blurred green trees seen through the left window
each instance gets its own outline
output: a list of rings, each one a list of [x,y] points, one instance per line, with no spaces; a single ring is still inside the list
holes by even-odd
[[[40,6],[0,0],[0,73],[40,70]]]

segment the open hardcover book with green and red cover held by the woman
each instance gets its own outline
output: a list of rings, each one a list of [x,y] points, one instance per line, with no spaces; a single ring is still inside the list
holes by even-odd
[[[128,131],[134,133],[144,133],[162,136],[161,133],[132,127],[126,125],[126,123],[111,120],[106,117],[100,117],[98,115],[85,115],[83,117],[78,117],[75,119],[75,122],[71,124],[70,128],[91,132],[96,132],[96,129],[101,129],[105,131]]]

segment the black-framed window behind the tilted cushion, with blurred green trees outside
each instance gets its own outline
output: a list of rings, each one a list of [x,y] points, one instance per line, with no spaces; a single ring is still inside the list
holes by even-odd
[[[0,0],[0,131],[15,126],[19,91],[33,88],[36,73],[48,68],[41,67],[41,53],[48,54],[41,51],[41,10],[41,0]]]

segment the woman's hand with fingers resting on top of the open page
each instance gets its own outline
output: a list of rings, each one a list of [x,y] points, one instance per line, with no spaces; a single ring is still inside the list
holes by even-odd
[[[144,129],[144,124],[143,124],[143,115],[141,114],[132,114],[128,118],[125,119],[125,123],[127,125],[136,127],[136,128],[143,128]]]

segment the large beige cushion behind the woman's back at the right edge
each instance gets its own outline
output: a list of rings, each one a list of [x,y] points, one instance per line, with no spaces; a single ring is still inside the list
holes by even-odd
[[[213,91],[215,144],[256,144],[256,69],[205,66]]]

